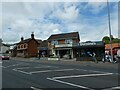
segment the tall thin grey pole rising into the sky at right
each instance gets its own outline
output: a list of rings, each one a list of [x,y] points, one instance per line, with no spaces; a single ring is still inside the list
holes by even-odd
[[[109,23],[109,36],[110,36],[110,51],[111,51],[111,59],[112,59],[112,62],[113,62],[112,39],[111,39],[111,23],[110,23],[110,8],[109,8],[108,0],[107,0],[107,8],[108,8],[108,23]]]

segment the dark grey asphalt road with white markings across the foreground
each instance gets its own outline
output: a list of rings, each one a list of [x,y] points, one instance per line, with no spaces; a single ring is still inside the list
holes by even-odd
[[[118,63],[15,59],[0,66],[3,90],[120,89]]]

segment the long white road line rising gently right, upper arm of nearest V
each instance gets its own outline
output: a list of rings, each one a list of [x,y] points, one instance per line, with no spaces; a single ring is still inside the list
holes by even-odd
[[[62,77],[53,77],[53,79],[76,78],[76,77],[93,77],[93,76],[105,76],[105,75],[112,75],[112,74],[113,74],[113,73],[87,74],[87,75],[74,75],[74,76],[62,76]]]

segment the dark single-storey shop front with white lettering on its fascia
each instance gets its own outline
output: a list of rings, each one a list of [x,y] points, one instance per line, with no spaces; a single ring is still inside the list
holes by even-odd
[[[95,53],[97,60],[102,60],[105,55],[105,45],[102,41],[82,42],[74,48],[76,58],[80,60],[92,60],[91,54]]]

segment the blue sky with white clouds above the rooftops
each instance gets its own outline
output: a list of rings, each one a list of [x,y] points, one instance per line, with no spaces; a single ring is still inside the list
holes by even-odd
[[[118,2],[109,2],[111,33],[118,37]],[[52,34],[79,32],[80,42],[109,36],[106,2],[2,2],[0,33],[3,42],[21,37],[46,40]]]

